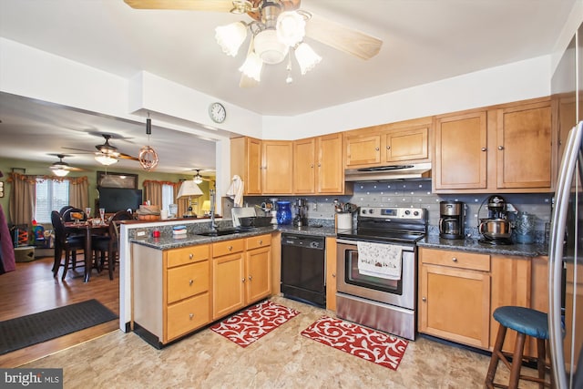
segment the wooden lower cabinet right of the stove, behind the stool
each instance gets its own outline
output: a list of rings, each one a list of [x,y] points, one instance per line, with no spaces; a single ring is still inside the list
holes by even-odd
[[[418,328],[457,343],[492,350],[496,308],[517,305],[547,312],[547,257],[489,255],[419,249]],[[514,351],[516,335],[506,333],[503,350]],[[525,347],[536,355],[536,342]]]

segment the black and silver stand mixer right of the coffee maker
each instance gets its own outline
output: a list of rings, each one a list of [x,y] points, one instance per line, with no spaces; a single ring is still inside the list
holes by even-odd
[[[486,244],[512,244],[512,224],[508,220],[506,200],[501,196],[490,196],[487,200],[488,217],[480,219],[478,232],[484,238],[478,240]],[[479,213],[479,211],[478,211]]]

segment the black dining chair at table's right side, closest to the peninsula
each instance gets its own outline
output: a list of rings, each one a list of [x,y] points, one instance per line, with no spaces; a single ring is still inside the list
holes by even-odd
[[[116,270],[116,262],[119,261],[119,221],[132,220],[133,216],[127,210],[120,210],[109,218],[108,234],[94,237],[92,250],[95,253],[95,267],[97,271],[103,271],[107,257],[107,271],[109,280],[113,280],[113,272]]]

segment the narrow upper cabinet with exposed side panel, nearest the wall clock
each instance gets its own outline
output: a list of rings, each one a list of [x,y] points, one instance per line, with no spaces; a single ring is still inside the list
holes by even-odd
[[[245,183],[245,194],[262,193],[262,142],[256,138],[230,139],[230,174],[237,174]]]

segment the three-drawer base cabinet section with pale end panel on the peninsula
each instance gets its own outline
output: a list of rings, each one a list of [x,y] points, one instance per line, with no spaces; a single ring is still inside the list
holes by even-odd
[[[132,245],[134,330],[159,346],[210,322],[210,246]]]

